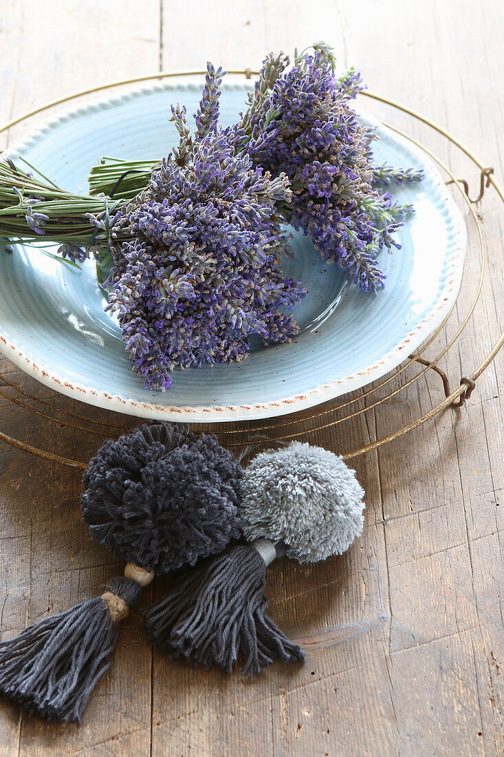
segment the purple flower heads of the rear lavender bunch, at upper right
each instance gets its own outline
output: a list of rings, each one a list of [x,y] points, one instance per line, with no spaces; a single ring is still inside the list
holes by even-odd
[[[377,178],[420,179],[418,172],[374,169],[372,129],[359,123],[349,101],[362,89],[350,69],[337,79],[331,48],[313,46],[314,55],[268,55],[248,109],[229,129],[239,151],[272,176],[285,174],[291,202],[277,201],[286,223],[308,235],[322,258],[341,267],[363,291],[377,291],[385,276],[378,251],[400,245],[400,210],[391,212],[390,195],[374,188]],[[402,217],[410,210],[404,207]]]

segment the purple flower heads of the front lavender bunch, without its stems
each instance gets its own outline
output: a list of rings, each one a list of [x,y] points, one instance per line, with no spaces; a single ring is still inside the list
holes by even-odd
[[[170,388],[176,366],[247,357],[250,335],[288,341],[297,332],[288,311],[306,293],[279,267],[275,203],[289,204],[288,179],[237,154],[216,126],[221,75],[209,64],[194,138],[185,109],[173,108],[178,148],[112,220],[108,307],[150,389]]]

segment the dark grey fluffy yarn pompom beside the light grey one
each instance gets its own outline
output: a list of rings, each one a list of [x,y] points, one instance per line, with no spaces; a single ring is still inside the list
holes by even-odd
[[[215,436],[152,422],[98,450],[83,476],[82,519],[114,554],[163,574],[238,537],[241,475]]]

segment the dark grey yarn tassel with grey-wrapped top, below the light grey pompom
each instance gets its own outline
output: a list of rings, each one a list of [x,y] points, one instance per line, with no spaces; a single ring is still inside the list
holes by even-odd
[[[146,608],[143,626],[155,646],[195,665],[219,665],[230,673],[258,673],[273,659],[304,660],[303,650],[265,613],[266,565],[285,547],[266,540],[234,547],[193,569],[159,603]]]

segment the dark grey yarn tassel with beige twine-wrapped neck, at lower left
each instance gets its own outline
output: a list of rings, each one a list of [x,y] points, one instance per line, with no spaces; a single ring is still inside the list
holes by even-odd
[[[96,681],[110,667],[117,624],[141,590],[136,581],[113,578],[101,597],[0,643],[2,696],[48,721],[79,723]]]

